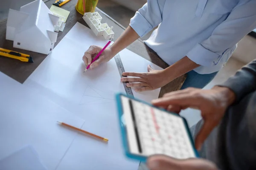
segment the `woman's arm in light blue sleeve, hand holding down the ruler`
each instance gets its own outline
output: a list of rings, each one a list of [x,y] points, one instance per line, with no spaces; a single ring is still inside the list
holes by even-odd
[[[212,35],[195,45],[189,53],[175,64],[169,66],[164,71],[149,72],[147,74],[136,74],[141,77],[141,82],[145,82],[143,89],[138,91],[154,90],[163,87],[173,79],[197,68],[200,65],[217,65],[224,52],[229,52],[230,48],[236,45],[239,40],[256,28],[256,1],[241,1],[229,14],[227,19],[215,28]],[[140,34],[143,34],[142,32]],[[139,35],[140,35],[139,34]],[[159,73],[157,76],[155,74]],[[125,73],[126,76],[134,76],[133,73]],[[133,79],[123,79],[122,81],[132,81]],[[135,87],[137,84],[129,84]]]

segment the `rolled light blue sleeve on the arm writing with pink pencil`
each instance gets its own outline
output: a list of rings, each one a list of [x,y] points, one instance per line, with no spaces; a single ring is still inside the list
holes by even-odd
[[[148,34],[162,22],[163,7],[166,0],[148,0],[131,18],[130,26],[140,37]]]

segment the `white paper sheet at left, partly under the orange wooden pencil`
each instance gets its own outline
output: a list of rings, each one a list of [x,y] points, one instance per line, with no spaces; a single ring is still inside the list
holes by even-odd
[[[0,72],[0,159],[31,144],[54,170],[77,132],[56,121],[81,127],[84,120]]]

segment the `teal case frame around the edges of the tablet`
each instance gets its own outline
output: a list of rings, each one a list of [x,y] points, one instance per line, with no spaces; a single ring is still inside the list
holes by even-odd
[[[141,155],[130,153],[129,145],[128,145],[128,140],[127,140],[126,127],[122,123],[123,107],[122,107],[121,96],[125,96],[125,97],[128,97],[129,99],[136,100],[138,102],[142,102],[142,103],[144,103],[146,105],[149,105],[149,106],[151,106],[153,108],[157,108],[157,109],[160,109],[160,110],[163,110],[163,111],[166,111],[166,110],[163,109],[163,108],[158,108],[158,107],[156,107],[154,105],[151,105],[151,104],[149,104],[149,103],[147,103],[145,101],[142,101],[142,100],[139,100],[139,99],[135,99],[133,96],[128,96],[128,95],[122,94],[122,93],[116,94],[116,104],[117,104],[118,115],[119,115],[119,125],[120,125],[120,129],[121,129],[122,143],[123,143],[123,147],[125,149],[125,155],[128,158],[136,159],[136,160],[139,160],[139,161],[142,161],[142,162],[146,162],[146,160],[147,160],[146,156],[141,156]],[[169,112],[169,111],[166,111],[166,112],[170,113],[170,114],[173,114],[175,116],[179,116],[179,117],[181,117],[183,119],[184,125],[186,126],[186,131],[187,131],[187,133],[189,135],[190,142],[192,143],[192,146],[193,146],[193,149],[194,149],[195,156],[199,158],[199,154],[198,154],[198,151],[195,148],[195,143],[194,143],[194,140],[193,140],[192,135],[190,133],[189,126],[188,126],[188,123],[187,123],[186,119],[183,118],[182,116],[178,115],[177,113],[172,113],[172,112]]]

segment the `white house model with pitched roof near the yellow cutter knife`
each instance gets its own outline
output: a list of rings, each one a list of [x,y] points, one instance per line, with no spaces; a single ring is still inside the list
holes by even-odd
[[[6,40],[13,41],[13,47],[49,54],[57,40],[59,17],[52,14],[42,0],[35,0],[20,7],[20,11],[10,9],[7,20]]]

